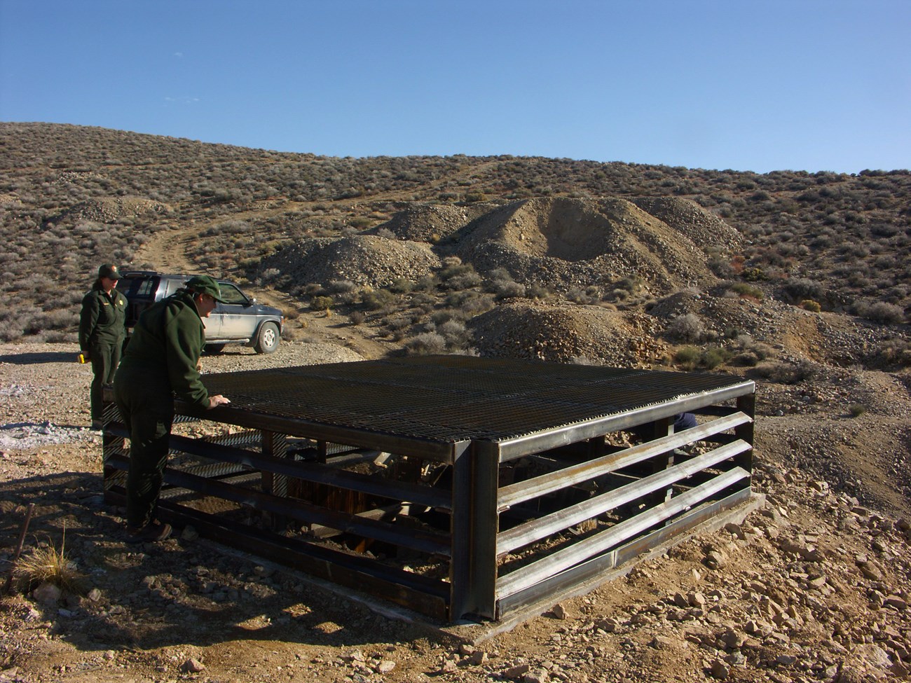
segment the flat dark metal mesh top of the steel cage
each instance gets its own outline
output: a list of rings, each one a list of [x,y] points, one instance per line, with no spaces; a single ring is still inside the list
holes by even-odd
[[[702,372],[452,355],[222,372],[202,379],[211,393],[230,398],[230,412],[437,443],[505,441],[744,384],[738,377]]]

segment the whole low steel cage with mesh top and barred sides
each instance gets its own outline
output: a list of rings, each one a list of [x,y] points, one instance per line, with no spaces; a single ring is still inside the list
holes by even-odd
[[[565,594],[752,494],[739,377],[447,355],[203,382],[230,405],[178,419],[230,433],[172,435],[161,518],[447,622]],[[128,432],[105,415],[120,505]]]

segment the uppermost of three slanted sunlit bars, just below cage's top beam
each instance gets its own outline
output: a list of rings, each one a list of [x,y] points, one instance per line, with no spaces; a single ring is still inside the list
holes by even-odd
[[[743,423],[752,422],[752,418],[744,413],[732,413],[718,420],[712,420],[709,423],[699,424],[685,432],[677,432],[662,436],[650,442],[640,443],[631,446],[623,451],[604,455],[585,463],[571,465],[557,472],[541,474],[532,479],[527,479],[516,484],[509,484],[499,489],[497,495],[497,506],[499,511],[521,503],[523,501],[537,498],[538,496],[550,494],[568,486],[581,484],[582,482],[594,479],[602,474],[615,472],[622,467],[630,464],[639,463],[648,460],[650,457],[660,455],[680,448],[682,445],[699,441],[712,434],[724,432],[733,429]]]

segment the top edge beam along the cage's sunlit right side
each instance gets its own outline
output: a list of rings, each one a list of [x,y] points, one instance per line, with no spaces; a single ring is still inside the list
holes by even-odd
[[[498,442],[500,462],[505,463],[523,455],[540,453],[568,443],[576,443],[595,436],[602,436],[606,433],[638,427],[645,423],[660,420],[663,417],[670,417],[677,413],[688,413],[713,403],[730,401],[753,392],[755,392],[754,382],[738,382],[722,389],[700,392],[696,395],[667,403],[650,405],[625,413],[608,415],[597,420],[570,424],[560,429],[500,441]]]

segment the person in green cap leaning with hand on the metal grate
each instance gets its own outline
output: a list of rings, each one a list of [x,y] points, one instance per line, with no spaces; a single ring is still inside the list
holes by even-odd
[[[114,377],[114,401],[129,429],[127,531],[129,542],[163,541],[171,527],[155,518],[174,398],[211,409],[230,401],[210,396],[200,380],[206,343],[202,319],[221,301],[219,284],[197,275],[184,289],[142,311]]]

